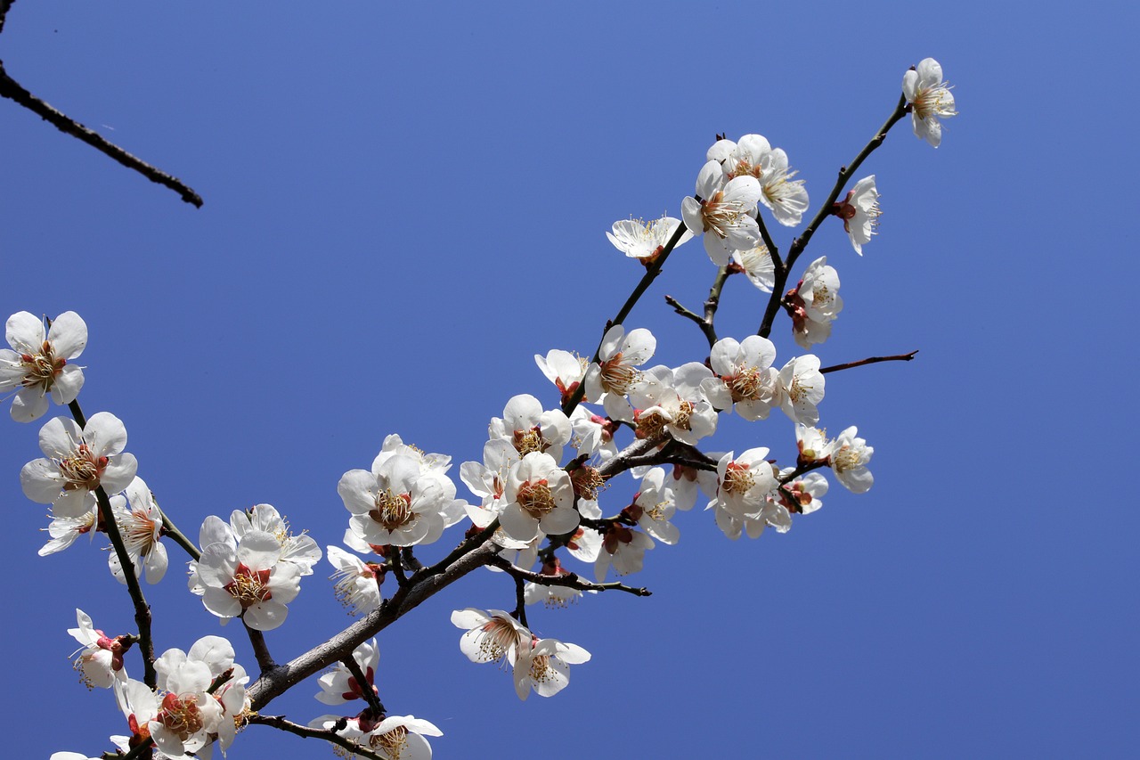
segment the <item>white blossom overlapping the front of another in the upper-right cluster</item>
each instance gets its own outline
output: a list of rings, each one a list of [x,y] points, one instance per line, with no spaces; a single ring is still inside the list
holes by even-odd
[[[763,191],[751,176],[724,181],[718,161],[709,161],[697,176],[697,197],[681,202],[685,225],[694,235],[705,235],[705,251],[719,267],[728,264],[733,251],[747,250],[760,242],[760,228],[751,216]]]

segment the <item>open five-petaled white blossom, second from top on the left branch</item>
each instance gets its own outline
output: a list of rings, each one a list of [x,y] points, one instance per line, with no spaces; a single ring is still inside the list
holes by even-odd
[[[138,469],[132,454],[124,454],[127,428],[109,412],[98,412],[82,428],[57,417],[40,429],[36,459],[19,471],[24,495],[40,504],[51,504],[57,517],[79,517],[95,503],[92,492],[100,485],[117,493],[130,484]]]

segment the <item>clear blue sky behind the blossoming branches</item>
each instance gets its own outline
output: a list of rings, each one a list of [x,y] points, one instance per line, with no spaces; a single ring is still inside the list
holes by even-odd
[[[594,654],[551,700],[459,653],[451,609],[513,606],[480,573],[384,631],[381,695],[445,731],[438,757],[1134,754],[1137,17],[1115,8],[19,2],[9,74],[205,205],[0,103],[0,310],[84,317],[80,399],[125,422],[185,531],[268,502],[324,547],[337,479],[388,434],[457,474],[507,398],[555,403],[532,356],[592,353],[640,276],[604,231],[679,216],[715,134],[765,135],[819,202],[933,56],[961,112],[942,147],[896,127],[860,172],[880,235],[860,258],[828,224],[806,254],[842,280],[824,364],[920,349],[828,378],[821,423],[858,426],[874,487],[833,484],[758,541],[683,515],[632,576],[651,598],[532,611]],[[657,359],[705,357],[661,297],[695,307],[712,274],[678,249],[627,322]],[[743,338],[762,310],[730,281],[718,329]],[[777,362],[801,353],[785,320],[773,338]],[[125,726],[76,684],[65,629],[82,607],[127,631],[130,607],[96,548],[35,556],[43,510],[16,474],[36,427],[2,427],[7,745],[96,754]],[[714,442],[795,451],[780,415]],[[269,636],[278,660],[349,622],[329,572]],[[146,590],[160,652],[220,632],[253,666],[177,567]],[[304,722],[316,690],[268,712]],[[230,757],[324,752],[252,727]]]

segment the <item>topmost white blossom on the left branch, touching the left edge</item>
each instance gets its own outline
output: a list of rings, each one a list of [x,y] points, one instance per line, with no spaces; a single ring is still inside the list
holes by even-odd
[[[44,335],[43,322],[17,312],[5,325],[10,349],[0,349],[0,393],[18,388],[11,419],[31,422],[48,411],[48,396],[64,406],[83,387],[83,370],[70,359],[87,347],[87,324],[74,312],[64,312]]]

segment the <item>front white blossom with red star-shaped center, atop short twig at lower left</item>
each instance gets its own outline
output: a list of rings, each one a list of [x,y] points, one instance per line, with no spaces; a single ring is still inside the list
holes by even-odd
[[[246,533],[236,549],[221,541],[205,547],[197,564],[202,604],[223,621],[241,616],[259,631],[277,628],[301,591],[301,569],[280,552],[277,536],[262,531]]]

